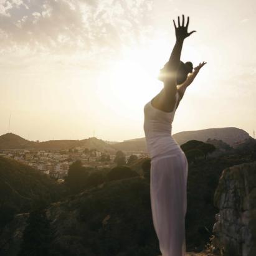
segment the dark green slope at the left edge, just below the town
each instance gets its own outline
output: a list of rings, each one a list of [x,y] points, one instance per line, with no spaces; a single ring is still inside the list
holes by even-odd
[[[14,214],[60,199],[62,186],[26,164],[0,157],[0,227]]]

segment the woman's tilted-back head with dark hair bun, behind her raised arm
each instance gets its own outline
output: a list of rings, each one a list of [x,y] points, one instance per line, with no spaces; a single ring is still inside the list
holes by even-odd
[[[159,80],[161,80],[162,82],[164,82],[164,78],[166,78],[166,76],[171,75],[168,71],[167,71],[167,67],[168,67],[168,62],[164,65],[163,69],[160,70],[159,73]],[[188,73],[192,73],[193,71],[193,64],[192,62],[180,62],[179,63],[179,69],[177,72],[177,84],[180,85],[181,83],[184,83],[187,79],[187,75]]]

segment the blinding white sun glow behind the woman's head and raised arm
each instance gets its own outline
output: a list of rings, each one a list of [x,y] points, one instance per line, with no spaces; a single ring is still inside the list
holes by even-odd
[[[116,116],[139,120],[143,105],[163,88],[159,70],[171,54],[166,40],[151,40],[146,47],[127,48],[119,59],[111,60],[99,76],[97,92],[100,103]],[[194,59],[187,49],[185,60]]]

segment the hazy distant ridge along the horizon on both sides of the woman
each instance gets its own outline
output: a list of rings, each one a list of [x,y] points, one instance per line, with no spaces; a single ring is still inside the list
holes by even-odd
[[[189,140],[207,141],[222,140],[230,146],[237,145],[250,137],[246,131],[235,127],[209,128],[196,131],[181,131],[173,135],[174,139],[182,145]],[[100,151],[130,151],[146,152],[145,138],[125,140],[118,143],[109,143],[92,137],[84,140],[49,140],[35,142],[25,140],[21,136],[13,133],[6,133],[0,136],[0,149],[26,148],[26,149],[69,149],[82,146],[85,148],[95,148]]]

